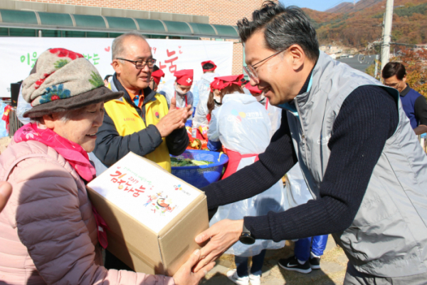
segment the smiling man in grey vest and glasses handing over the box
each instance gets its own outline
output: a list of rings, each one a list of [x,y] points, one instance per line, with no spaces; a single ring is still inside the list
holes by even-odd
[[[319,51],[295,6],[265,1],[237,25],[251,85],[283,109],[282,121],[257,162],[202,189],[208,208],[258,195],[297,162],[315,199],[217,222],[196,237],[209,242],[194,270],[235,242],[332,233],[349,259],[345,285],[426,284],[427,156],[399,92]]]

